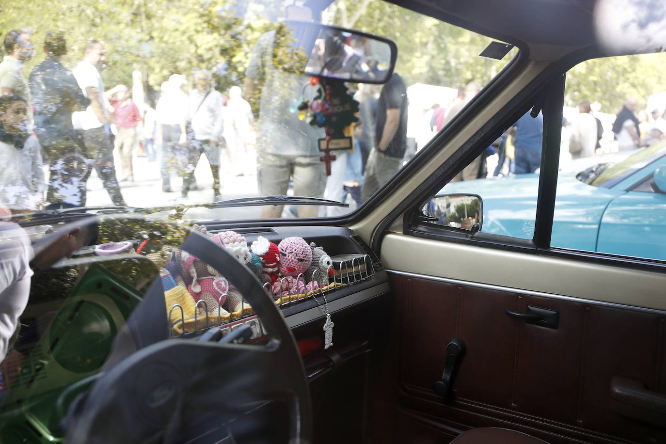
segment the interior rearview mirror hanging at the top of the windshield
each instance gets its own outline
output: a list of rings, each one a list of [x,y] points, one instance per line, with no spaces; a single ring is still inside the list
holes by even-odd
[[[320,23],[284,24],[292,48],[307,57],[302,68],[306,75],[354,83],[386,83],[393,73],[398,47],[389,39]]]

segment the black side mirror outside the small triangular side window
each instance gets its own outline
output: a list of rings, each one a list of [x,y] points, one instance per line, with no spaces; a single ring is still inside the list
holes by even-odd
[[[472,234],[481,231],[484,205],[478,194],[438,194],[424,206],[434,224],[460,228]]]

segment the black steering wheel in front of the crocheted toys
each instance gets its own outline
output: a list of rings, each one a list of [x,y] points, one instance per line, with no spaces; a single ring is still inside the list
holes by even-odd
[[[224,270],[258,314],[268,342],[243,345],[172,338],[139,349],[103,373],[87,396],[70,405],[65,442],[184,442],[192,425],[204,419],[222,425],[262,403],[279,400],[288,405],[288,442],[310,443],[308,382],[282,312],[248,268],[218,244],[191,232],[182,249]],[[159,279],[145,300],[152,291],[163,292]]]

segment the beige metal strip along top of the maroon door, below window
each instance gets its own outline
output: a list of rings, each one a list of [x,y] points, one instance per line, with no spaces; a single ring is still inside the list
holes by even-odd
[[[389,233],[387,270],[666,310],[666,274]]]

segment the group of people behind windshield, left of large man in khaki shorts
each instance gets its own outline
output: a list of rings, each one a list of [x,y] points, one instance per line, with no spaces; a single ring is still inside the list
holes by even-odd
[[[210,164],[212,197],[222,198],[220,148],[226,146],[225,138],[230,139],[228,163],[247,171],[250,105],[239,87],[230,89],[230,97],[216,91],[208,71],[196,71],[189,95],[183,91],[185,78],[172,75],[155,106],[150,97],[135,103],[127,85],[105,89],[101,70],[106,51],[101,41],[89,41],[83,59],[70,71],[62,64],[65,36],[49,32],[43,46],[47,57],[27,77],[23,63],[34,55],[31,36],[10,31],[4,46],[0,156],[8,168],[0,174],[0,195],[13,213],[85,206],[93,169],[113,204],[125,206],[121,183],[137,177],[134,158],[139,146],[149,161],[159,162],[164,191],[170,191],[174,174],[183,177],[181,198],[194,182],[197,154],[204,154]]]

